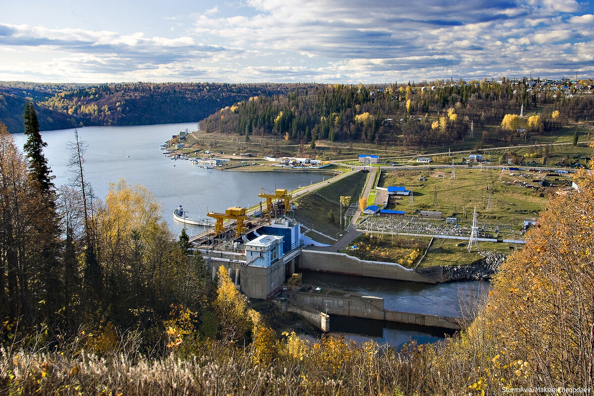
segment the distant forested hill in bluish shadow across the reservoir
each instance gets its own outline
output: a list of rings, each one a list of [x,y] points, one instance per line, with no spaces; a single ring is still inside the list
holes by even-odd
[[[41,130],[75,126],[192,122],[259,95],[283,95],[315,84],[129,82],[40,84],[0,82],[0,121],[23,132],[26,101],[34,101]]]

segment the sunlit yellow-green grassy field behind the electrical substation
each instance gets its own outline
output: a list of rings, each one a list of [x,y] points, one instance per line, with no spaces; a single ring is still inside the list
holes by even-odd
[[[512,172],[513,173],[513,172]],[[501,181],[498,181],[501,176]],[[510,171],[501,173],[500,170],[479,170],[478,168],[456,168],[456,178],[451,178],[451,170],[410,170],[384,171],[378,187],[405,186],[414,193],[414,205],[409,206],[406,199],[406,212],[415,210],[441,210],[444,217],[452,216],[463,221],[472,222],[474,207],[479,212],[479,222],[498,223],[518,227],[525,217],[535,216],[546,205],[548,195],[556,189],[539,187],[537,177],[543,174],[529,173],[529,177],[520,176],[519,172],[510,175]],[[424,177],[426,180],[419,180]],[[554,178],[558,180],[555,181]],[[548,178],[553,183],[565,186],[571,183],[570,175],[556,175]],[[518,180],[527,184],[535,184],[536,189],[527,189],[521,184],[513,183]],[[437,205],[434,205],[437,195]],[[490,198],[489,198],[490,197]],[[490,204],[489,204],[490,199]],[[388,207],[393,209],[396,205]]]

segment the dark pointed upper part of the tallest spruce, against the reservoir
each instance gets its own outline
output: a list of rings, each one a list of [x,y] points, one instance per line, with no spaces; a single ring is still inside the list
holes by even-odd
[[[23,149],[29,158],[29,170],[39,183],[40,189],[44,193],[49,193],[54,187],[52,179],[55,176],[51,175],[52,171],[49,168],[48,159],[43,155],[43,148],[48,143],[42,140],[41,133],[39,133],[39,120],[37,120],[37,113],[33,108],[33,103],[27,102],[23,118],[25,119],[25,135],[27,136],[27,142]]]

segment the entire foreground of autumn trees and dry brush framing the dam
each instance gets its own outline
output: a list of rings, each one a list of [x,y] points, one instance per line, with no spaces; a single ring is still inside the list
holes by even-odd
[[[23,152],[0,123],[2,394],[490,395],[594,387],[592,171],[578,170],[579,188],[551,199],[525,248],[495,275],[474,321],[445,341],[393,350],[274,330],[274,315],[254,309],[225,267],[212,279],[185,232],[171,234],[149,191],[121,180],[105,201],[94,198],[84,142],[71,145],[71,185],[54,186],[30,103],[24,119]]]

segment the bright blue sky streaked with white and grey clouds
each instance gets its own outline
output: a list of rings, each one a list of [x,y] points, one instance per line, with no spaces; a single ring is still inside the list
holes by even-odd
[[[594,0],[0,0],[0,81],[594,78]]]

